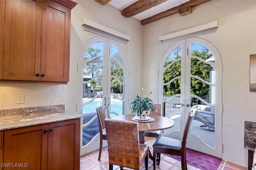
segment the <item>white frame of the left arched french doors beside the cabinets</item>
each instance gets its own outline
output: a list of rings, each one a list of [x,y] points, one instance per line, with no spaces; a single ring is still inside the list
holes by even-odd
[[[104,47],[103,47],[103,55],[104,57],[107,56],[106,59],[103,60],[104,62],[104,65],[103,65],[103,70],[104,70],[104,75],[111,75],[111,68],[110,68],[110,64],[111,64],[111,49],[109,49],[108,47],[105,47],[105,44],[107,43],[108,45],[111,45],[113,44],[118,50],[119,52],[122,54],[122,57],[124,59],[124,63],[127,63],[127,46],[126,44],[124,43],[121,43],[121,42],[117,42],[115,40],[112,40],[112,39],[109,39],[109,38],[105,38],[103,36],[94,36],[92,38],[90,38],[85,44],[84,46],[82,47],[82,50],[80,51],[80,55],[78,57],[78,104],[77,104],[77,111],[78,113],[80,113],[81,115],[83,115],[83,67],[84,67],[84,55],[86,54],[88,48],[90,46],[92,46],[94,43],[97,43],[97,42],[104,42]],[[108,65],[106,67],[106,65]],[[125,79],[126,79],[126,82],[125,82],[125,85],[124,85],[124,88],[125,88],[125,99],[124,101],[128,101],[128,95],[127,95],[127,82],[128,82],[128,74],[127,74],[127,65],[126,65],[126,74],[125,74]],[[103,93],[102,93],[102,105],[105,104],[105,101],[104,101],[104,98],[106,97],[106,104],[108,104],[108,97],[110,98],[111,96],[111,88],[110,86],[108,85],[108,82],[110,82],[110,76],[104,76],[103,75],[103,86],[107,89],[103,89]],[[111,99],[110,99],[111,100]],[[124,112],[127,110],[127,104],[124,105]],[[90,123],[92,123],[92,121],[94,119],[97,119],[97,115],[93,117],[93,119],[88,122],[87,124],[89,125]],[[86,124],[86,126],[88,126]],[[94,150],[97,150],[99,149],[99,141],[100,141],[100,135],[97,134],[96,136],[94,136],[94,138],[92,138],[92,140],[86,144],[85,146],[82,146],[82,137],[83,137],[83,122],[82,122],[82,119],[81,119],[81,139],[80,139],[80,156],[84,155],[84,154],[87,154],[87,153],[90,153]],[[107,145],[107,142],[106,140],[103,140],[103,147]]]

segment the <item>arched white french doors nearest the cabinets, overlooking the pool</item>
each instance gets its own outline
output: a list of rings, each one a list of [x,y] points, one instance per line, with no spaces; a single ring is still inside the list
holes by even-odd
[[[110,117],[124,114],[126,109],[126,44],[104,37],[86,42],[78,63],[80,104],[83,114],[81,155],[99,148],[99,125],[96,107],[108,105]],[[107,142],[103,142],[106,146]]]

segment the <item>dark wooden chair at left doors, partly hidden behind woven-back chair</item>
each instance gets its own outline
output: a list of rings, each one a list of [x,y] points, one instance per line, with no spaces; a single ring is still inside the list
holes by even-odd
[[[102,142],[103,140],[107,140],[106,132],[103,132],[105,129],[105,123],[104,119],[110,118],[110,114],[108,111],[108,105],[99,106],[96,108],[98,121],[99,121],[99,127],[100,127],[100,149],[99,149],[99,157],[98,160],[100,160],[101,152],[102,152]]]

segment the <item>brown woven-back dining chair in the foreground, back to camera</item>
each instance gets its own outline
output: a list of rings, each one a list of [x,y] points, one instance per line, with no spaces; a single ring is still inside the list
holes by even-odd
[[[109,169],[113,165],[139,170],[142,162],[148,170],[147,144],[139,143],[138,122],[105,119]]]

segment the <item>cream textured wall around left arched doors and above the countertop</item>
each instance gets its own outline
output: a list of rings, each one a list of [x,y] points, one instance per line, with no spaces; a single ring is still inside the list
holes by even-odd
[[[77,63],[80,51],[86,41],[92,38],[92,33],[82,29],[82,20],[87,18],[98,24],[112,28],[131,36],[128,42],[128,63],[131,67],[129,100],[136,96],[142,84],[142,26],[135,18],[125,18],[113,6],[101,4],[93,0],[76,0],[78,5],[71,11],[71,41],[70,41],[70,81],[68,85],[40,85],[40,84],[0,84],[0,109],[35,107],[44,105],[65,104],[65,109],[77,111],[78,72]],[[133,76],[136,75],[136,76]],[[137,86],[138,85],[138,86]],[[16,104],[16,95],[24,94],[25,103]],[[129,103],[129,102],[128,102]]]

